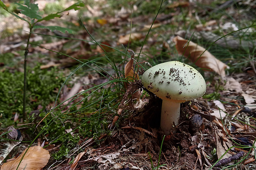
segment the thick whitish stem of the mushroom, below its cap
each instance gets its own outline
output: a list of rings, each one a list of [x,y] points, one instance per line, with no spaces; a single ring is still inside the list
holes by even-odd
[[[161,129],[166,135],[174,132],[180,118],[180,103],[163,100],[161,111]]]

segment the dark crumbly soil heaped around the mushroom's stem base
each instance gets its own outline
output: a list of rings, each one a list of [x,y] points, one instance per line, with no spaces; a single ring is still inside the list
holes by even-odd
[[[161,100],[159,98],[152,100],[154,101],[149,102],[143,112],[123,115],[123,117],[129,118],[122,120],[119,128],[114,130],[112,135],[107,137],[100,144],[100,148],[97,149],[97,156],[116,152],[120,152],[120,155],[113,160],[114,164],[98,168],[109,169],[110,167],[115,167],[116,164],[120,164],[123,169],[120,167],[114,169],[135,170],[135,167],[137,167],[142,170],[150,170],[152,165],[150,157],[147,155],[148,152],[152,158],[153,166],[157,166],[164,134],[159,128]],[[183,103],[177,132],[166,136],[162,145],[159,165],[166,164],[165,168],[162,167],[163,169],[205,169],[204,158],[202,158],[202,165],[200,165],[197,152],[195,151],[195,149],[199,150],[198,141],[194,142],[192,136],[196,135],[200,139],[199,142],[204,145],[205,153],[211,155],[213,148],[216,148],[216,144],[213,142],[215,141],[214,128],[211,122],[203,119],[201,116],[196,116],[197,119],[203,120],[203,125],[198,126],[198,122],[192,119],[194,115],[190,102]],[[148,130],[156,137],[143,130],[122,128],[127,126]],[[143,154],[146,154],[146,156]]]

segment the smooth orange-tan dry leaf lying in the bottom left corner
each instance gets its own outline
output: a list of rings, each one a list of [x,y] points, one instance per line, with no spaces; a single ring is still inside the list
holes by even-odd
[[[28,151],[25,154],[26,150]],[[24,154],[25,156],[21,161]],[[50,154],[46,149],[39,146],[30,147],[25,149],[15,160],[4,163],[1,170],[40,170],[47,165],[49,159]],[[18,165],[19,168],[17,169]]]

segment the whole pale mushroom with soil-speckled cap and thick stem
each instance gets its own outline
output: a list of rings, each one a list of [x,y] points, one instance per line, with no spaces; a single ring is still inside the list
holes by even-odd
[[[161,63],[142,75],[142,84],[163,100],[161,129],[166,135],[175,132],[180,117],[180,103],[204,95],[204,77],[190,65],[179,61]]]

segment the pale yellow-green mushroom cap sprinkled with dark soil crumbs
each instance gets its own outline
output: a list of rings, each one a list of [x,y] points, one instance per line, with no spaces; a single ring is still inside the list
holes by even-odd
[[[190,65],[179,61],[161,63],[142,75],[142,84],[163,100],[185,102],[204,95],[204,77]]]

